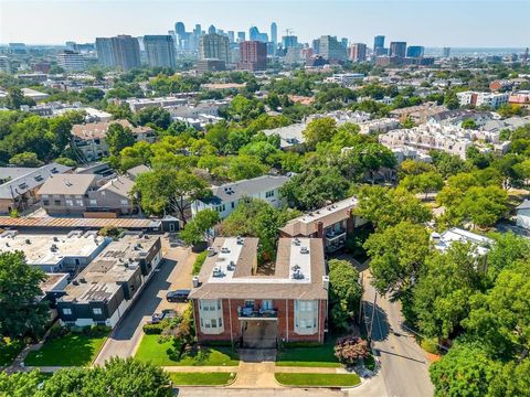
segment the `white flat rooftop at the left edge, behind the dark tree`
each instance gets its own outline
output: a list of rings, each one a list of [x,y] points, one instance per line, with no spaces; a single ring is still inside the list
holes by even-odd
[[[24,253],[30,265],[56,265],[65,258],[87,258],[108,239],[96,232],[68,234],[25,234],[7,230],[0,234],[0,251]]]

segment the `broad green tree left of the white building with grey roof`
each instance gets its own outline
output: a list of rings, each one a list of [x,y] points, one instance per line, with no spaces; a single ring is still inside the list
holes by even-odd
[[[132,195],[139,196],[144,211],[165,214],[177,211],[186,224],[186,213],[195,200],[211,194],[208,183],[187,171],[174,169],[145,172],[136,178]]]

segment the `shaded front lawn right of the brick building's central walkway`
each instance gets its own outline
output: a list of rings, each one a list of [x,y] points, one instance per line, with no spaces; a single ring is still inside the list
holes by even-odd
[[[285,347],[278,352],[277,366],[303,367],[340,367],[342,366],[335,356],[335,337],[329,337],[320,346],[315,347]]]

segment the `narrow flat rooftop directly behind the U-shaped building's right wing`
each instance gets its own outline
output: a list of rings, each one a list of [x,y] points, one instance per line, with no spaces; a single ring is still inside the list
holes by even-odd
[[[290,219],[280,230],[289,236],[309,236],[317,232],[316,224],[318,222],[321,222],[324,228],[326,228],[349,218],[351,210],[357,204],[358,200],[354,196],[342,200]]]

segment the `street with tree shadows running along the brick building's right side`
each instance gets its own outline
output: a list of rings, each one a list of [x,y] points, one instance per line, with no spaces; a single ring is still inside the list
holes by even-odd
[[[364,318],[370,329],[375,290],[370,273],[364,272]],[[378,376],[353,389],[349,396],[430,397],[433,385],[428,361],[413,335],[403,328],[401,304],[378,296],[373,315],[373,347],[381,364]],[[365,386],[365,387],[364,387]]]

